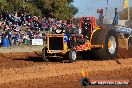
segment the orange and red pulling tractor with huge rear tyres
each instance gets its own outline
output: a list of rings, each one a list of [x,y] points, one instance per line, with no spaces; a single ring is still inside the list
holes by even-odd
[[[81,34],[47,34],[47,44],[42,49],[43,61],[49,57],[67,57],[69,62],[77,60],[78,52],[92,51],[95,57],[114,59],[118,52],[118,36],[113,24],[103,24],[102,10],[100,19],[81,17]]]

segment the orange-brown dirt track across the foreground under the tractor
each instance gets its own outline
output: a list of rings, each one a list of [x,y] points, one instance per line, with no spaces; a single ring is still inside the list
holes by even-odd
[[[132,49],[127,51],[120,48],[119,51],[116,60],[81,60],[75,63],[61,63],[56,60],[44,63],[38,55],[30,52],[1,53],[0,88],[79,88],[82,87],[79,83],[82,68],[88,71],[91,79],[132,80]],[[132,88],[132,84],[120,87]]]

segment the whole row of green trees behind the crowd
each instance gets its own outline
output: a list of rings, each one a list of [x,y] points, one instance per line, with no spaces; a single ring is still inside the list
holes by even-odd
[[[74,0],[0,0],[0,13],[27,12],[35,16],[70,19],[77,12]]]

